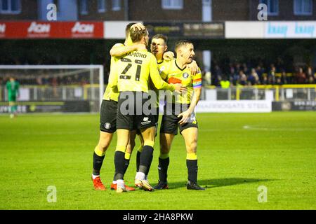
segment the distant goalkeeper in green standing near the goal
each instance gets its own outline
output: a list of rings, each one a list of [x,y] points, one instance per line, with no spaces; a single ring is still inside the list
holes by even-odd
[[[12,76],[6,82],[6,90],[8,90],[8,102],[10,106],[10,118],[16,116],[17,108],[16,99],[19,97],[20,84]]]

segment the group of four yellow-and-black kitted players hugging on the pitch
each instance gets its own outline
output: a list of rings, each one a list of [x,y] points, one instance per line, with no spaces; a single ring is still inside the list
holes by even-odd
[[[126,26],[126,40],[110,50],[111,65],[107,88],[100,109],[100,138],[93,152],[92,181],[96,190],[106,190],[100,169],[114,132],[114,179],[110,188],[123,193],[140,188],[147,191],[168,189],[169,152],[173,138],[183,136],[187,151],[187,189],[205,190],[197,184],[197,120],[195,106],[202,90],[202,73],[193,59],[194,45],[176,41],[176,58],[167,51],[167,37],[157,34],[147,51],[149,34],[140,23]],[[163,96],[163,97],[162,97]],[[159,120],[159,99],[164,99],[164,112],[159,134],[159,182],[152,187],[147,180],[152,163]],[[136,157],[135,187],[126,186],[124,174],[135,139],[140,147]]]

